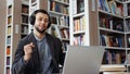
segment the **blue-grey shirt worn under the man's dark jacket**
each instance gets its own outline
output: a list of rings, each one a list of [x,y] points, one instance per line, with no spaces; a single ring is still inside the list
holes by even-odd
[[[38,52],[40,55],[40,72],[39,74],[52,74],[52,66],[50,65],[52,62],[52,55],[50,52],[50,48],[47,44],[46,36],[42,39],[39,39],[36,35],[35,38],[37,40]]]

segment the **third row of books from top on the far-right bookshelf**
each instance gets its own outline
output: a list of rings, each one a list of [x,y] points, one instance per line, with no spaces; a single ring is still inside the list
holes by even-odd
[[[114,35],[100,35],[101,46],[106,47],[123,47],[123,38]]]

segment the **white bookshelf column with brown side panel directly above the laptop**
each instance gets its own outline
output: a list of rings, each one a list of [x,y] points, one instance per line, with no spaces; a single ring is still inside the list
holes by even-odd
[[[69,2],[70,45],[98,46],[98,13],[93,0]]]

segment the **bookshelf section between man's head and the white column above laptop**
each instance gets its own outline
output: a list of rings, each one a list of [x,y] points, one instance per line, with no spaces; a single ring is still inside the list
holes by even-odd
[[[69,0],[49,0],[48,11],[52,21],[48,32],[62,40],[66,51],[69,45]]]

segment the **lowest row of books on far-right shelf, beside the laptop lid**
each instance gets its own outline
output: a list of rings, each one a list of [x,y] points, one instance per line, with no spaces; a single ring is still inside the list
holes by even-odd
[[[103,57],[103,64],[125,64],[126,51],[106,50]]]

